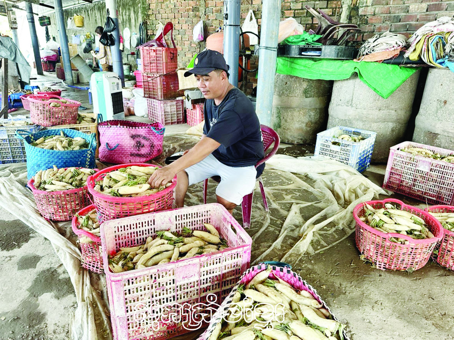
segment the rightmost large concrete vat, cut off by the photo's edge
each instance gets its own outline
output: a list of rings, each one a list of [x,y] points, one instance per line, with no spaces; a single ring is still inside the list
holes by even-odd
[[[413,141],[454,150],[454,73],[430,68],[415,120]]]

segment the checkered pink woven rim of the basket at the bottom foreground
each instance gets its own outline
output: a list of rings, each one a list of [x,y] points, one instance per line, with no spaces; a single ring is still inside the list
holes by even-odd
[[[210,325],[208,326],[207,330],[205,330],[205,332],[203,332],[202,335],[200,335],[198,340],[208,340],[210,338],[210,335],[215,329],[217,323],[223,321],[224,316],[222,314],[229,308],[230,304],[232,303],[233,296],[238,290],[238,287],[241,284],[249,283],[253,277],[255,277],[259,272],[266,270],[266,268],[268,268],[268,265],[259,264],[257,266],[247,269],[247,271],[243,273],[243,275],[240,278],[240,281],[232,289],[232,292],[229,294],[229,296],[227,296],[224,299],[224,301],[222,301],[221,306],[219,306],[219,308],[216,308],[217,306],[216,307],[213,306],[214,308],[217,309],[217,311],[212,316]],[[333,315],[330,308],[326,305],[326,302],[322,300],[320,295],[318,295],[315,288],[313,288],[310,284],[304,281],[298,274],[296,274],[296,272],[292,272],[291,269],[288,267],[271,266],[271,273],[269,278],[272,279],[275,277],[279,277],[282,281],[289,283],[293,288],[299,291],[304,290],[310,292],[312,296],[314,296],[314,299],[320,302],[323,305],[323,308],[330,312],[334,320],[338,321],[336,316]],[[343,331],[343,335],[345,340],[350,340],[348,335],[345,333],[345,330]]]

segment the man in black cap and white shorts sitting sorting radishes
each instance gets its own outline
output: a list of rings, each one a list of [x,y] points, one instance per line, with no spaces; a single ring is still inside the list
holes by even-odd
[[[183,156],[150,177],[158,188],[177,174],[175,205],[183,207],[188,185],[220,176],[217,202],[227,210],[242,203],[255,187],[255,165],[264,157],[260,123],[251,101],[228,81],[228,70],[221,53],[206,50],[197,55],[194,68],[184,76],[195,75],[197,86],[207,99],[202,139]]]

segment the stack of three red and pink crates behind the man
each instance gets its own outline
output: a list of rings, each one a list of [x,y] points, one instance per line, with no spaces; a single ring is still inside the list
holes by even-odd
[[[148,118],[163,125],[184,123],[183,99],[177,99],[177,49],[141,47],[143,95],[148,102]],[[137,77],[137,76],[136,76]],[[139,77],[140,78],[140,77]]]

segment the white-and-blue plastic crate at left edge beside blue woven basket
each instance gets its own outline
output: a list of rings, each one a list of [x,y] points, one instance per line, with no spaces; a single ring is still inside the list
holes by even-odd
[[[0,119],[1,124],[11,124],[13,122],[26,121],[32,124],[30,119],[25,118],[9,118]],[[22,163],[27,161],[25,156],[24,140],[17,138],[17,130],[25,130],[30,133],[38,132],[39,125],[24,125],[24,126],[0,126],[0,164]]]

